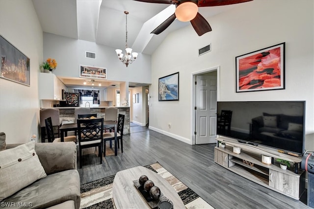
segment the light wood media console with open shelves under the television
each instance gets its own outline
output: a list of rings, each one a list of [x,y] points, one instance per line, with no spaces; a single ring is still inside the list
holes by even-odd
[[[215,147],[215,163],[248,180],[296,200],[299,200],[305,192],[304,170],[299,169],[297,173],[294,173],[293,169],[281,169],[277,162],[269,165],[262,163],[262,155],[266,155],[293,162],[297,166],[302,161],[301,157],[276,153],[277,150],[261,145],[239,143],[235,139],[219,137],[217,140],[225,142],[226,147]],[[233,152],[234,146],[241,148],[240,154]]]

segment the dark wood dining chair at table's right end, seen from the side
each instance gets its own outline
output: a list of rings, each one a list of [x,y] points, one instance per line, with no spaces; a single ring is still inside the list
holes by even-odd
[[[120,142],[121,142],[122,153],[123,153],[123,127],[124,127],[124,115],[119,114],[117,129],[115,130],[115,132],[117,134],[118,148],[120,148]],[[115,132],[104,133],[104,156],[106,152],[106,141],[110,141],[110,144],[112,144],[112,141],[114,141]]]

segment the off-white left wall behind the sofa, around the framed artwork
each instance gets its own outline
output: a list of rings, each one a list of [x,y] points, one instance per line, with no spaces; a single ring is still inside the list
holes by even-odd
[[[43,32],[31,0],[0,0],[0,25],[0,34],[30,59],[30,87],[0,79],[0,132],[7,143],[25,143],[39,136]]]

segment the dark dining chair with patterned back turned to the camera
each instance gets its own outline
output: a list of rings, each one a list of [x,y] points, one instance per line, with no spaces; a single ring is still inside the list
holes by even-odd
[[[98,146],[100,163],[103,164],[104,118],[78,119],[79,166],[82,168],[82,149]]]

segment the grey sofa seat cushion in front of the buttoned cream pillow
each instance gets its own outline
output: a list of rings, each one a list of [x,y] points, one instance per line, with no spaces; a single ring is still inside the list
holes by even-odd
[[[78,170],[75,169],[48,175],[11,195],[3,202],[25,202],[32,203],[32,208],[49,208],[68,200],[73,200],[75,208],[79,208],[79,175]]]

